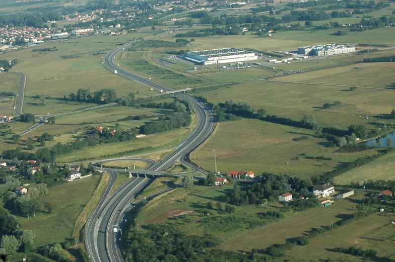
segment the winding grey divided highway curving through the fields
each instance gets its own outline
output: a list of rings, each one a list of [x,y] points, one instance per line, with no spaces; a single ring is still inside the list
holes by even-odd
[[[167,32],[151,36],[146,39],[154,39],[166,34]],[[116,73],[119,76],[140,82],[158,90],[174,91],[168,86],[128,72],[118,66],[118,63],[115,62],[117,54],[133,44],[134,42],[131,42],[110,51],[104,57],[104,65],[107,69],[113,73],[115,73],[116,70]],[[190,132],[190,134],[180,142],[179,147],[176,150],[169,153],[160,161],[151,164],[146,170],[139,170],[139,172],[141,172],[139,173],[139,177],[129,179],[116,189],[110,197],[108,197],[107,194],[111,191],[111,187],[113,186],[116,177],[112,171],[107,169],[107,172],[109,172],[111,176],[111,181],[108,184],[109,188],[106,189],[99,205],[92,212],[85,226],[85,244],[88,254],[93,262],[124,262],[121,249],[119,247],[119,239],[123,225],[126,222],[126,213],[133,208],[133,206],[128,205],[127,203],[129,203],[129,201],[133,199],[134,195],[139,193],[139,191],[141,191],[151,181],[151,179],[147,178],[147,174],[163,172],[177,160],[187,166],[190,166],[192,169],[201,172],[202,174],[206,174],[204,171],[199,170],[187,162],[185,158],[190,151],[205,141],[213,131],[215,118],[212,113],[212,108],[204,102],[196,100],[186,94],[178,94],[175,96],[181,100],[194,104],[196,109],[195,116],[198,120],[198,124],[196,124],[196,127]]]

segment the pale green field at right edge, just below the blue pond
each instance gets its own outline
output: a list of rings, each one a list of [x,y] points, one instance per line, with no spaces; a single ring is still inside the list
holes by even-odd
[[[350,185],[351,182],[362,184],[368,180],[395,180],[395,174],[393,173],[395,168],[394,156],[394,153],[385,154],[373,162],[347,171],[336,177],[335,183],[338,185]]]

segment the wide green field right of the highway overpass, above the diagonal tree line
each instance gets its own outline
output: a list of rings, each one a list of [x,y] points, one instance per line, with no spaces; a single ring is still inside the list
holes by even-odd
[[[337,68],[325,70],[337,70]],[[281,79],[274,78],[275,81]],[[255,110],[263,108],[270,115],[292,119],[300,119],[303,115],[313,115],[322,126],[336,125],[340,128],[347,128],[351,124],[367,125],[381,121],[379,118],[382,119],[382,115],[389,114],[393,109],[392,101],[395,98],[393,91],[362,88],[353,92],[349,90],[343,86],[262,80],[200,92],[196,95],[206,97],[214,104],[225,103],[227,100],[233,100],[235,103],[247,102]],[[328,109],[322,108],[323,104],[332,104],[335,101],[340,101],[341,105]],[[392,119],[386,119],[385,122],[395,123]],[[368,125],[367,128],[374,129],[376,126]]]

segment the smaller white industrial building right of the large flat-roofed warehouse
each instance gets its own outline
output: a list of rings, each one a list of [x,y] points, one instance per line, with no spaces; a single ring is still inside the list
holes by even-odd
[[[326,56],[326,55],[347,54],[353,52],[355,52],[355,47],[349,45],[339,45],[339,44],[298,47],[298,54],[303,54],[303,55]]]

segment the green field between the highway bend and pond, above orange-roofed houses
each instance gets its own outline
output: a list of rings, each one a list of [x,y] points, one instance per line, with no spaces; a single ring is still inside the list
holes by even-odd
[[[301,136],[307,136],[308,139],[293,141]],[[233,139],[229,139],[230,137]],[[331,171],[358,157],[377,153],[372,149],[360,152],[341,151],[325,147],[327,144],[324,139],[314,138],[312,130],[240,119],[221,123],[215,136],[196,150],[195,158],[192,157],[191,160],[214,171],[215,148],[217,169],[223,173],[230,170],[252,170],[255,176],[262,172],[273,172],[310,177]],[[302,153],[332,160],[305,159],[301,156]]]

